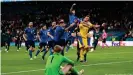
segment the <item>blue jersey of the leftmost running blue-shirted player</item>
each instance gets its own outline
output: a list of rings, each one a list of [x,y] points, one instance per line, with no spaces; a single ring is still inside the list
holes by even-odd
[[[25,34],[27,35],[26,36],[27,40],[34,41],[35,28],[29,28],[29,27],[27,27],[25,29]]]

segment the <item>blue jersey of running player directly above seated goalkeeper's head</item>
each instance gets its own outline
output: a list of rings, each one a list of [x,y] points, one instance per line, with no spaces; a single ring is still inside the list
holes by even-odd
[[[61,26],[57,26],[56,29],[55,29],[54,40],[55,41],[60,41],[63,34],[64,34],[64,28],[61,27]]]

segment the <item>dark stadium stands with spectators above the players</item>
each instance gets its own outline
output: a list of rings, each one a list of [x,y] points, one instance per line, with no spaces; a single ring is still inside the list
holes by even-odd
[[[32,21],[34,27],[40,29],[45,24],[51,26],[52,21],[63,18],[69,24],[69,8],[73,2],[9,2],[2,3],[2,33],[9,30],[12,37],[16,29],[22,32]],[[108,30],[124,31],[125,37],[133,37],[133,8],[129,2],[76,2],[76,16],[82,18],[85,15],[91,16],[93,24],[102,25]],[[87,6],[86,6],[87,5]]]

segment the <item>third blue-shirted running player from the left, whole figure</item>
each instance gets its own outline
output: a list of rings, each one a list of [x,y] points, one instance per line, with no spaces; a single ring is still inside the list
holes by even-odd
[[[50,49],[50,55],[53,54],[53,48],[54,48],[54,30],[56,28],[56,22],[52,22],[52,27],[48,29],[47,35],[48,35],[48,46]]]

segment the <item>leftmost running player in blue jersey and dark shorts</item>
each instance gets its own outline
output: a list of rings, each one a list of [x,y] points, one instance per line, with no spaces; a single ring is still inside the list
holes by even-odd
[[[33,28],[33,22],[29,22],[29,27],[25,29],[23,38],[25,41],[27,41],[30,60],[33,60],[32,52],[35,50],[34,35],[35,35],[35,29]]]

